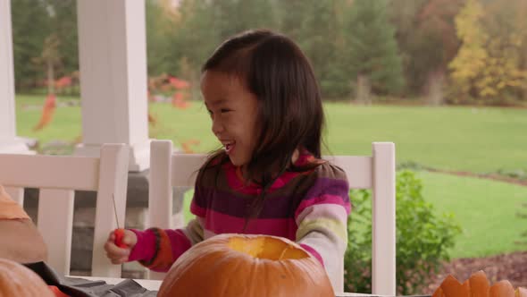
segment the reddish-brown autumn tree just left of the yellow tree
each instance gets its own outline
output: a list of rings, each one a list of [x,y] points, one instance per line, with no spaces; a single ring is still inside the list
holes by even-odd
[[[397,40],[405,54],[408,90],[424,93],[431,105],[444,101],[448,63],[456,56],[455,17],[463,0],[420,0],[392,2],[392,20],[397,23]]]

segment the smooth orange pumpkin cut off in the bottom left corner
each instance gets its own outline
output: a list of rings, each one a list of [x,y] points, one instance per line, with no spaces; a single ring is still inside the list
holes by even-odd
[[[0,259],[0,297],[54,297],[46,283],[28,267]]]

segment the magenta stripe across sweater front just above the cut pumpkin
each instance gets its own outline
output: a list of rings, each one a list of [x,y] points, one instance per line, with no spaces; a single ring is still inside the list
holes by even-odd
[[[243,230],[246,218],[228,216],[209,210],[205,217],[205,229],[216,233],[251,233],[286,237],[295,241],[297,224],[293,218],[256,218],[249,221]]]

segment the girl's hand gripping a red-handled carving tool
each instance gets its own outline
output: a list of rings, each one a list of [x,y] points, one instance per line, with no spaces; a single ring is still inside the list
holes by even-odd
[[[113,264],[122,264],[128,261],[130,251],[138,243],[136,233],[126,229],[115,229],[108,236],[105,243],[106,257]]]

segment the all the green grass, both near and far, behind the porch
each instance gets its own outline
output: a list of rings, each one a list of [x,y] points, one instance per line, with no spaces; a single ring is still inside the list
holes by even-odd
[[[72,98],[70,98],[72,99]],[[74,141],[81,135],[79,106],[60,106],[54,122],[33,132],[44,98],[17,97],[17,130],[21,136]],[[62,98],[59,99],[62,101]],[[491,107],[325,105],[332,154],[370,154],[372,141],[396,143],[397,162],[413,161],[440,169],[473,173],[500,169],[527,170],[527,109]],[[201,102],[185,110],[153,104],[157,123],[150,136],[176,144],[199,140],[197,152],[217,148],[210,120]],[[527,187],[475,178],[419,172],[423,196],[438,212],[452,212],[462,225],[452,256],[479,257],[512,250],[527,231],[527,220],[516,216],[527,203]],[[492,240],[489,240],[491,238]],[[527,240],[527,239],[523,239]]]

